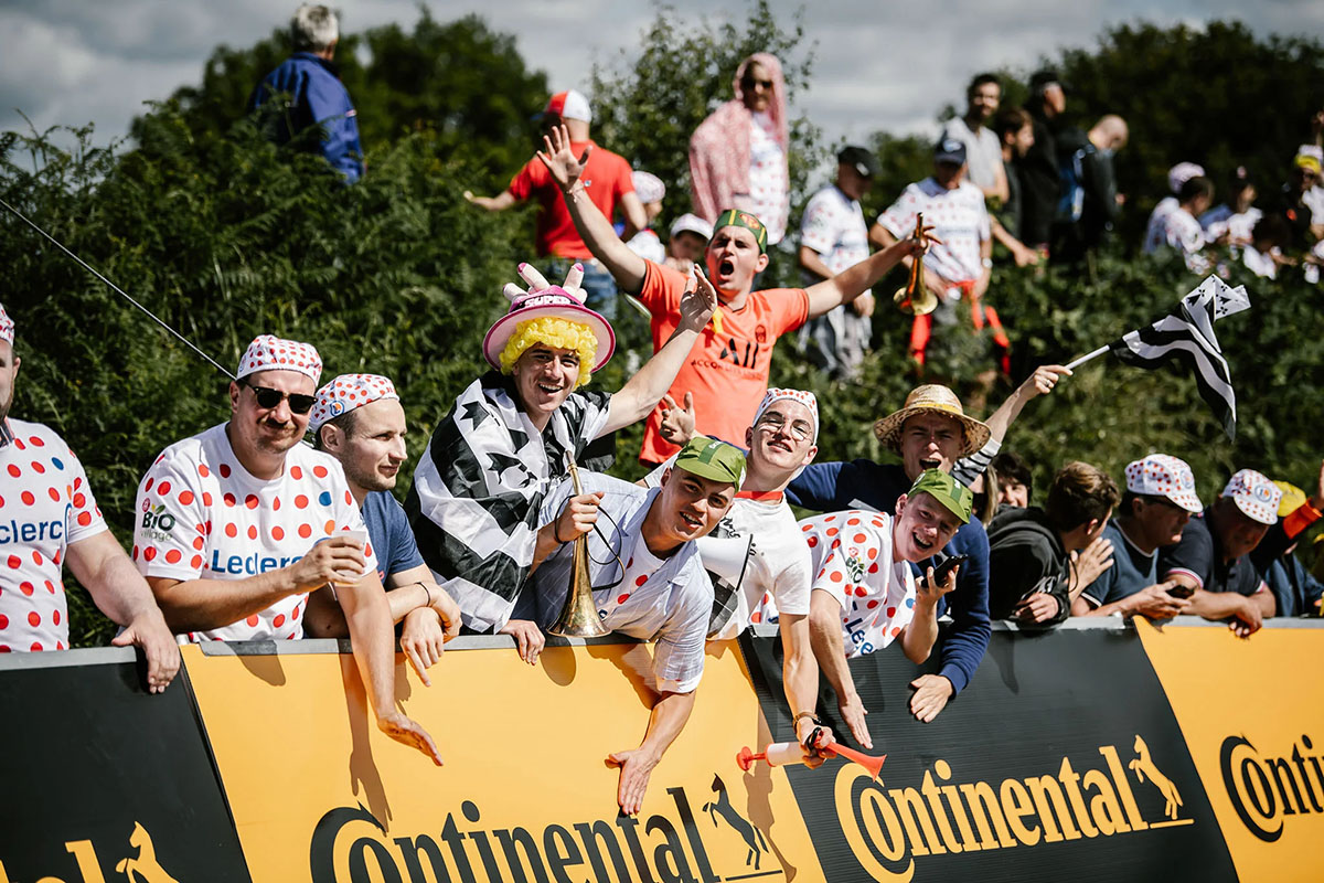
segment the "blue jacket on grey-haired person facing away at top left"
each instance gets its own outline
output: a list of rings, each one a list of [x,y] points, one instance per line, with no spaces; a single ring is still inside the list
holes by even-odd
[[[269,73],[249,99],[257,110],[273,95],[289,94],[289,116],[277,126],[275,139],[283,144],[308,126],[322,127],[322,155],[350,184],[363,177],[363,144],[350,93],[335,68],[310,52],[297,52]]]

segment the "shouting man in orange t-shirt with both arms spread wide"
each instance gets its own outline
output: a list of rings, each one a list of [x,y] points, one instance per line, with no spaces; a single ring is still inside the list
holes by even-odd
[[[553,131],[544,144],[547,150],[539,158],[565,195],[576,229],[617,285],[637,295],[653,314],[653,347],[661,348],[682,319],[686,278],[630,252],[585,196],[580,176],[589,150],[576,156],[564,131]],[[752,291],[755,275],[768,266],[767,248],[768,230],[757,217],[737,209],[720,213],[706,254],[708,278],[720,304],[703,328],[700,346],[688,353],[671,387],[677,401],[686,392],[694,396],[699,432],[728,442],[744,437],[768,392],[777,338],[806,319],[850,303],[904,256],[924,249],[918,240],[907,238],[808,289]],[[639,459],[646,463],[661,463],[677,450],[659,432],[661,420],[661,414],[653,414],[645,429]]]

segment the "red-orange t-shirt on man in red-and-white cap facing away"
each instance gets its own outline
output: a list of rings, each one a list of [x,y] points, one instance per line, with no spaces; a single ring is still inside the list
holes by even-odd
[[[593,142],[572,142],[571,150],[579,156],[589,144]],[[584,181],[588,197],[606,220],[612,220],[616,204],[621,197],[634,192],[630,164],[625,162],[624,156],[602,150],[597,144],[593,144],[593,152],[588,155],[588,165],[584,167],[580,180]],[[565,199],[552,181],[543,160],[536,156],[528,160],[506,189],[520,203],[534,196],[538,197],[540,207],[538,212],[539,254],[585,259],[593,257],[593,253],[584,245],[584,240],[580,238],[579,230],[575,229],[575,221],[571,220],[569,209],[565,208]]]

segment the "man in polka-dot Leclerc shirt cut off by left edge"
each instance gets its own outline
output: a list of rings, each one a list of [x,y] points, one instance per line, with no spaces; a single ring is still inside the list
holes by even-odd
[[[147,657],[147,688],[160,692],[179,671],[175,645],[143,577],[101,516],[82,463],[50,428],[9,417],[21,360],[13,320],[0,306],[0,653],[69,649],[69,605],[61,565],[124,630],[111,643]],[[20,508],[21,507],[21,508]],[[21,512],[21,515],[20,515]],[[12,520],[11,520],[12,519]]]

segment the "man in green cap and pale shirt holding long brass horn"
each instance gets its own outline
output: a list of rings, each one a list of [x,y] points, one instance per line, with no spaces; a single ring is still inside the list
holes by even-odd
[[[621,768],[617,802],[626,814],[642,808],[653,768],[694,708],[712,585],[692,540],[726,515],[744,471],[739,447],[695,436],[658,488],[584,473],[583,494],[573,495],[563,481],[543,502],[532,563],[539,625],[549,626],[565,604],[575,539],[588,535],[589,582],[602,625],[655,641],[651,686],[661,698],[643,743],[608,757]],[[531,601],[522,598],[519,610]]]

